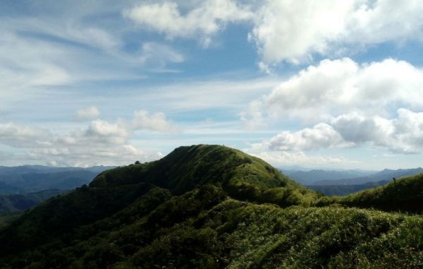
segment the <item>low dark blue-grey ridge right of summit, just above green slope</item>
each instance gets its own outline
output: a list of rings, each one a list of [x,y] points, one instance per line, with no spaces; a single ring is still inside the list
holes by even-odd
[[[372,189],[377,186],[382,186],[387,184],[389,181],[382,180],[377,182],[367,182],[364,184],[357,185],[307,185],[310,189],[314,191],[319,191],[327,196],[346,196],[357,191],[362,191],[365,189]]]

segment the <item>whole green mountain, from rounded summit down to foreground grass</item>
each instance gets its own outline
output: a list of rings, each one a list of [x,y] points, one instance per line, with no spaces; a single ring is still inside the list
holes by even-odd
[[[27,211],[0,242],[0,268],[423,266],[419,215],[343,208],[217,145],[102,172]]]

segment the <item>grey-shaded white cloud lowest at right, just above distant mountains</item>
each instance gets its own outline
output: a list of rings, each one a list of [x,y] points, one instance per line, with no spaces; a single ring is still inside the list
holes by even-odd
[[[398,109],[397,117],[367,116],[352,112],[300,131],[283,131],[257,143],[261,153],[302,153],[327,148],[350,148],[369,144],[393,153],[423,153],[423,112]]]

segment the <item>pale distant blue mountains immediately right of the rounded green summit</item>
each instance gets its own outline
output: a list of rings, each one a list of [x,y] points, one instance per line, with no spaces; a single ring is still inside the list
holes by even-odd
[[[281,170],[291,179],[294,179],[300,184],[315,185],[318,181],[336,181],[343,179],[355,179],[357,177],[368,177],[375,174],[374,171],[364,170],[309,170],[309,171],[296,171],[296,170]],[[328,184],[330,185],[330,184]]]

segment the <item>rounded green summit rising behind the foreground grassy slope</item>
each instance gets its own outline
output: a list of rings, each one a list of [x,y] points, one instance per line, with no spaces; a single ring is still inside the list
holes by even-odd
[[[221,145],[176,148],[155,162],[103,172],[90,187],[141,182],[168,189],[173,194],[218,184],[234,198],[257,202],[277,198],[279,205],[311,203],[316,198],[314,191],[288,179],[263,160]]]

